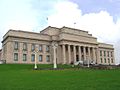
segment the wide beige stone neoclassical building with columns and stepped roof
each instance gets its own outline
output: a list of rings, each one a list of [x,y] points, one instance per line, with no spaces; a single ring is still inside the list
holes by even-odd
[[[40,33],[9,30],[2,41],[6,63],[70,64],[94,61],[114,65],[113,45],[99,43],[87,31],[69,27],[47,27]]]

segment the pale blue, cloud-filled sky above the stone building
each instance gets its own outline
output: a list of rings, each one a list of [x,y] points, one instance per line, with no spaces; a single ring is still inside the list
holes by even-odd
[[[0,41],[9,29],[39,32],[47,26],[89,31],[114,45],[120,63],[120,0],[0,0]]]

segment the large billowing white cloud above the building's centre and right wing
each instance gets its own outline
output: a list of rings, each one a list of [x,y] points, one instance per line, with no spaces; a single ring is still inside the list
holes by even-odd
[[[68,26],[86,30],[97,37],[98,41],[114,44],[117,53],[115,57],[119,62],[119,51],[116,49],[120,48],[116,47],[115,42],[120,39],[120,19],[115,23],[113,16],[107,11],[83,15],[77,4],[68,1],[56,4],[55,11],[54,14],[49,16],[48,25],[56,27]],[[76,22],[76,25],[74,25],[74,22]]]

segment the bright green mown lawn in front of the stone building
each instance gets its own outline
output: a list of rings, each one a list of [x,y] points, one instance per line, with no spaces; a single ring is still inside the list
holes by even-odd
[[[120,90],[120,69],[64,67],[69,69],[33,70],[33,65],[0,65],[0,90]]]

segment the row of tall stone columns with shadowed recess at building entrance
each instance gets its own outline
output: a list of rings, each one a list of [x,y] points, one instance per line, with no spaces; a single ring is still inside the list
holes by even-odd
[[[61,53],[61,56],[59,57],[61,58],[63,64],[70,64],[77,61],[87,62],[88,60],[89,62],[94,61],[97,63],[97,47],[72,44],[61,44],[59,47],[61,50],[57,49],[57,52]]]

